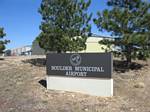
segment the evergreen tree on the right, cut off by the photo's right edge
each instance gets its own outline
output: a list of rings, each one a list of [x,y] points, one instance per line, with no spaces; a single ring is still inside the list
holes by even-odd
[[[110,9],[97,13],[94,19],[100,31],[111,33],[114,40],[99,43],[121,49],[127,65],[132,59],[146,59],[150,56],[150,4],[143,0],[109,0]]]

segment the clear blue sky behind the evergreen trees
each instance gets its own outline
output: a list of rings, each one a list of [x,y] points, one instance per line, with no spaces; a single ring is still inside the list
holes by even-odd
[[[104,10],[107,0],[92,0],[88,13],[96,17],[97,11]],[[5,39],[11,42],[7,49],[31,45],[39,35],[39,26],[42,21],[38,13],[41,0],[0,0],[0,27],[4,27]],[[106,32],[99,32],[91,21],[92,33],[107,36]]]

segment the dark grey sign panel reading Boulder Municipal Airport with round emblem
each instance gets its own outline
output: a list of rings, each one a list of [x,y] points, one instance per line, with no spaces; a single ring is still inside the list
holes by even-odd
[[[49,53],[47,74],[66,77],[111,78],[111,53]]]

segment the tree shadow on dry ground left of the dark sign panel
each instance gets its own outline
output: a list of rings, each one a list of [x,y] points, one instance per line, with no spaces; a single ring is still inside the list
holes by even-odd
[[[34,66],[45,67],[46,66],[46,58],[35,58],[35,59],[27,59],[23,60],[24,63],[30,63]]]

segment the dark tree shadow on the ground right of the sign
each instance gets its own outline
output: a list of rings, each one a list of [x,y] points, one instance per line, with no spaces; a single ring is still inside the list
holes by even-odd
[[[116,72],[121,72],[121,73],[127,72],[129,70],[138,70],[144,66],[146,66],[146,65],[132,62],[130,64],[130,66],[128,67],[127,63],[125,61],[121,61],[121,60],[113,61],[113,70]]]

